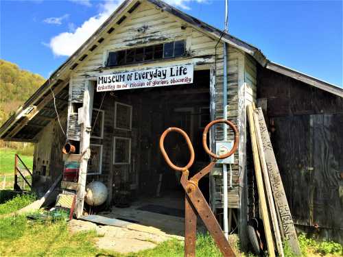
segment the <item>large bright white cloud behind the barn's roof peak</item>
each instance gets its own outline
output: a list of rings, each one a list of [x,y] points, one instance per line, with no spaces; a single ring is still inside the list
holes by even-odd
[[[71,0],[78,1],[78,0]],[[203,3],[206,0],[165,0],[170,5],[174,5],[179,8],[189,9],[188,4],[191,1]],[[84,1],[78,1],[78,3]],[[91,4],[90,1],[86,1]],[[98,28],[108,17],[112,14],[116,8],[123,2],[123,0],[107,0],[100,3],[99,14],[91,17],[80,27],[75,28],[74,31],[70,29],[69,32],[62,32],[57,36],[51,38],[49,47],[53,51],[55,56],[71,56]]]

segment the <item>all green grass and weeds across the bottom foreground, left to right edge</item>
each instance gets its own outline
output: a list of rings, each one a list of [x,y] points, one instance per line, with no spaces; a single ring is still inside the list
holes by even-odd
[[[34,201],[32,195],[20,195],[0,204],[0,214],[19,210]],[[0,218],[0,256],[111,256],[111,257],[182,257],[184,243],[176,239],[165,241],[154,249],[138,253],[119,254],[98,249],[95,241],[100,235],[95,231],[71,234],[64,219],[28,220],[25,216]],[[101,235],[103,236],[103,235]],[[318,242],[305,234],[298,236],[303,256],[342,256],[342,245]],[[253,257],[238,252],[239,243],[230,241],[239,256]],[[209,234],[198,234],[197,257],[222,256]],[[237,255],[238,256],[238,255]],[[285,245],[285,257],[294,256]]]

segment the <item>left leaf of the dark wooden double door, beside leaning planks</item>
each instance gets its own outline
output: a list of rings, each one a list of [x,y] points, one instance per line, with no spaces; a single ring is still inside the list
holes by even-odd
[[[309,116],[274,118],[272,144],[294,223],[309,224]]]

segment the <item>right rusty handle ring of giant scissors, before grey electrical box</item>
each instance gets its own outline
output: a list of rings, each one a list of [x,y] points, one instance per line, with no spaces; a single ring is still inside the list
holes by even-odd
[[[226,123],[226,125],[229,125],[233,129],[233,132],[235,133],[235,141],[233,143],[233,148],[227,154],[223,154],[221,156],[217,156],[216,154],[213,154],[213,152],[211,152],[211,150],[207,146],[207,133],[209,132],[210,128],[217,123]],[[233,153],[235,153],[235,151],[238,148],[238,130],[237,130],[237,127],[232,122],[227,121],[226,119],[218,119],[215,121],[211,121],[209,124],[206,125],[206,127],[204,129],[204,133],[202,133],[202,146],[204,147],[204,150],[206,151],[206,153],[215,159],[228,158],[228,156],[233,155]]]

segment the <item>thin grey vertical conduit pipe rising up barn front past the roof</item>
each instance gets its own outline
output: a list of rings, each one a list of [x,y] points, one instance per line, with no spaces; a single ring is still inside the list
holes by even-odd
[[[225,1],[225,32],[228,32],[228,0]],[[228,119],[228,71],[227,71],[227,46],[224,42],[224,84],[223,84],[223,110],[224,119]],[[224,124],[224,141],[228,140],[228,127]],[[223,190],[224,190],[224,235],[228,239],[228,169],[226,164],[223,164]]]

